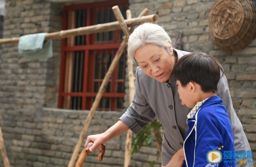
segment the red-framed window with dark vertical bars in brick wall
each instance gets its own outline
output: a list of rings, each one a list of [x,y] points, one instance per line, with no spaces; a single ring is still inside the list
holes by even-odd
[[[124,18],[128,0],[66,6],[63,30],[116,21],[112,6]],[[121,44],[121,30],[69,37],[62,40],[59,108],[90,109],[103,78]],[[98,110],[121,111],[124,103],[126,52],[103,93]]]

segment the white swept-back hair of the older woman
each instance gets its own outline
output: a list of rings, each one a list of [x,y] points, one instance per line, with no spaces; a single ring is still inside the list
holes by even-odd
[[[135,51],[149,43],[163,47],[167,52],[170,52],[168,41],[172,43],[171,38],[163,27],[154,23],[143,23],[136,27],[129,36],[127,53],[128,56],[134,58]]]

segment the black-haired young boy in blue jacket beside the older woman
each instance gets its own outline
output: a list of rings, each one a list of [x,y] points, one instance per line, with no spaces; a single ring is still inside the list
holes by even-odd
[[[205,53],[191,53],[177,62],[173,73],[181,104],[192,108],[187,115],[184,166],[235,167],[231,123],[215,93],[223,75],[221,64]]]

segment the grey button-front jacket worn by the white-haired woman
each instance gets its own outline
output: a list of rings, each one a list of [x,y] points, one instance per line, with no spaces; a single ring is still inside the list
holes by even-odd
[[[189,52],[175,49],[178,60]],[[250,150],[248,140],[241,122],[232,105],[228,89],[228,81],[222,76],[218,83],[217,95],[223,100],[234,134],[235,150]],[[173,155],[183,147],[187,133],[187,114],[191,111],[181,100],[177,92],[174,76],[169,82],[161,83],[147,76],[140,67],[136,69],[135,94],[132,105],[120,117],[134,133],[138,133],[144,126],[152,122],[157,116],[164,127],[162,142],[162,165],[167,165]],[[247,164],[247,166],[253,166]]]

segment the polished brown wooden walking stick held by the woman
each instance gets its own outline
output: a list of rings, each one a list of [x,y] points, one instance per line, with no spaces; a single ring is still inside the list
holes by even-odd
[[[91,147],[92,144],[93,144],[93,143],[90,142],[90,143],[87,144],[86,147],[84,147],[84,149],[82,150],[82,152],[80,153],[80,155],[79,155],[79,157],[78,157],[78,159],[77,159],[77,161],[76,161],[76,166],[75,166],[75,167],[81,167],[81,166],[83,165],[83,162],[84,162],[86,156],[87,156],[88,154],[91,154],[91,152],[89,151],[89,148]],[[99,150],[100,150],[100,151],[99,151],[99,154],[98,154],[97,159],[98,159],[99,161],[102,161],[103,156],[104,156],[104,154],[105,154],[105,145],[104,145],[104,144],[101,144],[100,147],[99,147]]]

